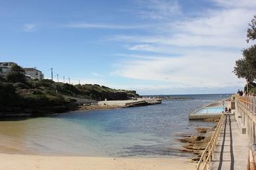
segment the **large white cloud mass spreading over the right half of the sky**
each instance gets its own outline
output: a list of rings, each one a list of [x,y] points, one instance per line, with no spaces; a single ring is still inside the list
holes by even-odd
[[[153,35],[110,37],[111,41],[125,43],[127,50],[133,52],[119,61],[113,74],[156,81],[159,86],[155,88],[161,84],[187,89],[243,86],[232,70],[236,59],[242,57],[240,50],[248,46],[247,24],[255,14],[256,3],[238,0],[214,3],[221,8],[205,10],[196,18],[169,20],[161,24],[162,31],[158,27],[152,30]],[[165,53],[169,57],[160,54],[152,57],[148,52]]]

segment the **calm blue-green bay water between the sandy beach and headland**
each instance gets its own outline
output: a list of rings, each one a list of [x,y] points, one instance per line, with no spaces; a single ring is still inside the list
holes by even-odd
[[[190,156],[177,150],[182,143],[175,138],[181,133],[194,133],[196,126],[215,125],[213,122],[189,121],[188,111],[217,98],[218,95],[204,99],[166,100],[161,105],[146,107],[75,111],[0,122],[1,146],[11,148],[9,152],[26,154]]]

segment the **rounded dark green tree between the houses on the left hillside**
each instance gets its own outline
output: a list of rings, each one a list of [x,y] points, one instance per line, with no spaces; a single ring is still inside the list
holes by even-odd
[[[17,64],[11,66],[10,72],[7,74],[8,82],[26,82],[25,71]]]

